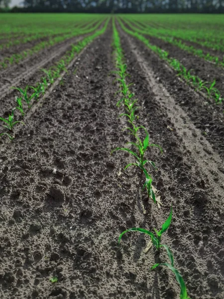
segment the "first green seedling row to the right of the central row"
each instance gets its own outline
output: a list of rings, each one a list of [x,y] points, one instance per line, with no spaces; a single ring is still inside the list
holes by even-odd
[[[132,31],[125,27],[123,22],[120,18],[117,18],[118,22],[121,26],[121,28],[128,33],[129,35],[132,35],[142,41],[150,50],[155,52],[161,59],[165,60],[166,63],[171,66],[176,72],[177,75],[184,79],[188,84],[191,84],[196,91],[205,91],[207,94],[208,99],[212,98],[216,101],[217,104],[221,104],[224,100],[224,98],[221,95],[221,92],[215,87],[216,80],[213,82],[206,82],[203,81],[201,78],[199,78],[196,75],[192,75],[192,70],[187,70],[186,67],[180,63],[175,58],[169,57],[169,52],[161,49],[160,47],[156,45],[152,45],[147,38],[145,38],[143,35],[141,35],[138,32]],[[130,27],[132,25],[130,24]],[[131,27],[132,28],[132,27]],[[134,29],[134,28],[133,28]]]

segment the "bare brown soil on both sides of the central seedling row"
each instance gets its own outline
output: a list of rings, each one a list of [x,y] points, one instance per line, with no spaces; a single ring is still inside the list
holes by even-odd
[[[159,229],[171,204],[162,242],[174,254],[189,297],[224,298],[223,115],[117,28],[139,123],[163,148],[163,154],[151,148],[146,156],[158,167],[151,174],[163,205],[147,201],[138,169],[123,171],[131,156],[111,155],[129,135],[122,131],[124,119],[117,119],[123,110],[116,107],[111,74],[110,23],[73,61],[64,84],[26,114],[16,139],[1,140],[2,299],[179,298],[171,272],[149,271],[168,260],[163,251],[144,253],[148,237],[129,233],[117,246],[127,228]]]

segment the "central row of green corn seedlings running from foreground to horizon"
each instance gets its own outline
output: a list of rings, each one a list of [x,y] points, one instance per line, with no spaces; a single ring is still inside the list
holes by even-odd
[[[130,91],[130,86],[132,84],[128,84],[126,82],[126,77],[128,76],[128,74],[126,72],[127,65],[124,62],[124,56],[123,56],[123,52],[122,52],[122,48],[121,48],[121,44],[120,44],[120,38],[119,38],[118,31],[116,30],[116,27],[115,27],[114,18],[113,18],[112,25],[113,25],[113,46],[114,46],[115,65],[116,65],[116,71],[114,73],[117,76],[116,80],[119,82],[118,92],[121,96],[121,98],[117,102],[116,106],[118,106],[118,107],[122,106],[124,108],[124,112],[122,114],[120,114],[119,117],[126,118],[128,127],[124,128],[124,130],[129,131],[129,134],[133,140],[132,142],[128,142],[130,147],[116,148],[116,149],[113,149],[112,152],[114,152],[116,150],[122,150],[122,151],[126,151],[129,154],[131,154],[131,156],[135,159],[135,162],[131,162],[131,163],[127,164],[124,169],[126,169],[127,167],[130,167],[130,166],[135,166],[135,167],[139,168],[140,173],[145,176],[142,190],[144,190],[146,188],[148,199],[152,198],[153,202],[156,203],[158,205],[158,207],[160,207],[161,202],[160,202],[160,200],[158,200],[156,198],[155,193],[153,191],[152,177],[149,175],[148,170],[146,169],[147,164],[150,164],[154,168],[156,168],[156,166],[153,161],[145,158],[145,152],[149,147],[157,147],[160,149],[161,152],[162,152],[162,149],[159,145],[151,144],[149,142],[149,134],[148,134],[146,128],[143,125],[141,125],[139,122],[139,118],[136,114],[137,110],[138,110],[137,99],[135,98],[134,93],[132,93]],[[140,134],[140,132],[144,132],[145,138],[141,139],[140,136],[142,136],[142,134]],[[132,150],[132,148],[134,148],[134,149]],[[169,249],[169,247],[167,245],[161,244],[161,237],[162,237],[163,233],[165,233],[166,230],[169,228],[171,220],[172,220],[172,205],[171,205],[170,214],[169,214],[167,220],[163,223],[163,225],[159,231],[154,229],[155,233],[152,233],[149,230],[146,230],[143,228],[136,228],[136,227],[130,228],[130,229],[123,231],[120,234],[120,236],[118,238],[118,244],[120,243],[120,240],[121,240],[123,234],[125,234],[127,232],[137,231],[137,232],[149,235],[151,242],[152,242],[151,246],[154,245],[158,252],[160,252],[160,249],[164,248],[166,250],[166,253],[167,253],[169,261],[170,261],[170,263],[155,264],[151,267],[151,270],[155,269],[158,266],[168,267],[168,269],[170,269],[175,274],[176,280],[180,285],[180,289],[181,289],[180,298],[181,299],[189,299],[184,280],[183,280],[181,274],[178,272],[178,270],[176,268],[174,268],[174,257],[173,257],[171,250]]]

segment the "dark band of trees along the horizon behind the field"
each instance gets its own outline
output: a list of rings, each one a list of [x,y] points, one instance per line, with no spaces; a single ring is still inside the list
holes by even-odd
[[[8,7],[10,0],[0,0]],[[224,13],[224,0],[21,0],[11,12]]]

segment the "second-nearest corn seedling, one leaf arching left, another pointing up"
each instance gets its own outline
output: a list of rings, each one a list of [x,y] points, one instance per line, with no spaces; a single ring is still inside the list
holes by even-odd
[[[127,233],[127,232],[139,232],[139,233],[144,233],[146,235],[149,235],[150,238],[151,238],[151,241],[152,241],[152,244],[155,246],[155,248],[160,251],[160,248],[164,247],[166,252],[167,252],[167,255],[170,259],[170,262],[171,262],[171,265],[173,267],[174,265],[174,259],[173,259],[173,255],[172,255],[172,252],[170,251],[169,247],[167,245],[164,245],[164,244],[161,244],[161,237],[162,237],[162,234],[169,228],[170,226],[170,223],[171,223],[171,220],[172,220],[172,206],[171,206],[171,210],[170,210],[170,214],[169,214],[169,217],[167,218],[167,220],[163,223],[162,225],[162,228],[160,231],[157,231],[155,228],[154,228],[154,231],[156,233],[156,236],[151,233],[150,231],[144,229],[144,228],[136,228],[136,227],[133,227],[133,228],[129,228],[125,231],[123,231],[120,235],[119,235],[119,238],[118,238],[118,245],[120,244],[120,240],[122,238],[122,236]]]

